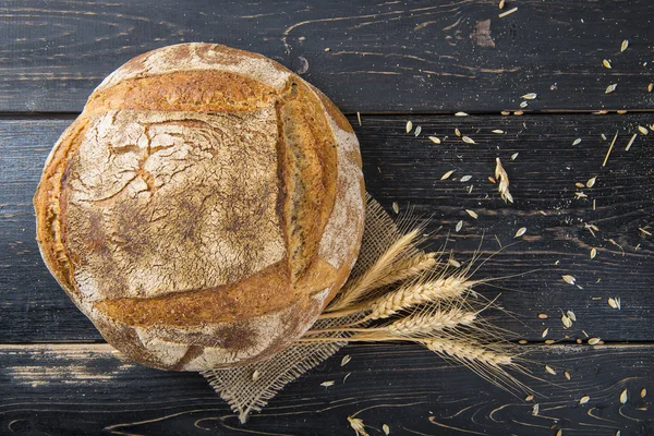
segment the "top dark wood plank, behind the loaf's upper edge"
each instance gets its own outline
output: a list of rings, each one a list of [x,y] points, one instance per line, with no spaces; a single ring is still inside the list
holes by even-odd
[[[497,4],[14,0],[0,14],[0,111],[80,111],[121,63],[187,41],[262,52],[347,111],[499,111],[526,93],[536,111],[654,108],[650,0],[507,1],[518,11],[502,19]]]

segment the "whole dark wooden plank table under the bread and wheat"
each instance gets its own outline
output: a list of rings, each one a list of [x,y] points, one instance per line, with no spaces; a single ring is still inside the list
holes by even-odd
[[[654,434],[654,7],[507,0],[500,11],[497,3],[3,2],[0,434],[340,435],[354,433],[347,421],[354,414],[371,435],[384,424],[391,435]],[[94,86],[128,59],[180,41],[257,51],[299,72],[349,116],[367,190],[387,210],[397,202],[433,216],[429,230],[440,229],[433,246],[449,234],[459,261],[482,237],[486,253],[505,247],[477,271],[507,276],[495,283],[501,289],[480,291],[500,293],[506,312],[492,320],[526,341],[533,378],[519,378],[537,392],[533,400],[419,347],[352,346],[240,425],[199,375],[142,367],[104,343],[44,266],[32,196],[51,146]],[[537,97],[521,97],[528,93]],[[409,120],[419,136],[405,133]],[[487,180],[496,157],[513,204]],[[565,329],[567,311],[577,322]],[[351,362],[341,366],[346,354]],[[642,398],[642,389],[651,393]],[[580,404],[583,396],[590,401]]]

